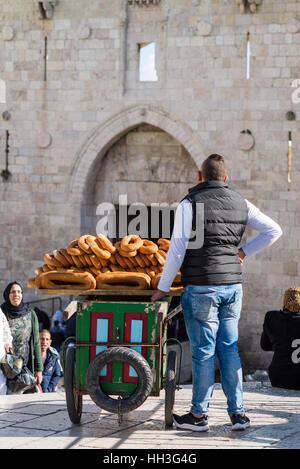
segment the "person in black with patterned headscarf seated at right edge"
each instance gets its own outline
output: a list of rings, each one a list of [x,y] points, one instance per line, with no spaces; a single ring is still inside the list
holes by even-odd
[[[260,345],[274,352],[268,369],[272,386],[299,390],[300,287],[285,292],[282,310],[267,312]]]

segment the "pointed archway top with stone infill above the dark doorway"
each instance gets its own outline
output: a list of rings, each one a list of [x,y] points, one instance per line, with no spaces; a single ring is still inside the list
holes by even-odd
[[[98,126],[81,147],[69,187],[80,231],[95,234],[97,207],[178,202],[197,183],[204,145],[184,122],[151,106],[127,109]],[[118,210],[118,209],[117,209]],[[150,223],[150,222],[149,222]]]

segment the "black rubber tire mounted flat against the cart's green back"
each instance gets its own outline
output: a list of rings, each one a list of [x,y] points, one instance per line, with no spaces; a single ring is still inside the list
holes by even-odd
[[[129,363],[138,375],[137,388],[125,399],[111,398],[102,390],[99,383],[100,371],[111,362]],[[101,409],[117,414],[125,414],[142,405],[151,392],[152,382],[153,377],[148,362],[140,353],[126,347],[107,348],[96,355],[88,366],[85,379],[86,389],[93,401]]]

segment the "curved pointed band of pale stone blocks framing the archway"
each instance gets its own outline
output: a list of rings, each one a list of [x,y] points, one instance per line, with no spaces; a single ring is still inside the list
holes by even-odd
[[[185,147],[197,167],[200,167],[207,157],[205,144],[185,122],[158,107],[134,106],[100,124],[84,142],[71,173],[68,188],[70,202],[78,204],[83,201],[87,181],[108,149],[131,129],[141,124],[158,127],[174,137]]]

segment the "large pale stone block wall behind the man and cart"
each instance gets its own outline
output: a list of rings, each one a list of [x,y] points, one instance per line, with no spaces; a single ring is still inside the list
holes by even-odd
[[[264,314],[299,283],[299,104],[292,85],[300,78],[300,3],[263,0],[252,14],[233,0],[59,0],[50,2],[52,19],[42,19],[39,3],[0,0],[0,114],[10,114],[0,115],[0,162],[4,169],[8,130],[12,174],[0,184],[1,289],[12,279],[25,283],[45,252],[82,233],[102,158],[121,148],[128,132],[151,125],[185,148],[179,168],[184,155],[196,168],[222,153],[232,187],[283,228],[276,245],[243,267],[242,358],[249,369],[265,366]],[[158,80],[140,82],[138,44],[152,41]],[[286,119],[290,110],[294,121]],[[241,134],[247,129],[253,141]],[[168,197],[178,197],[176,186]]]

